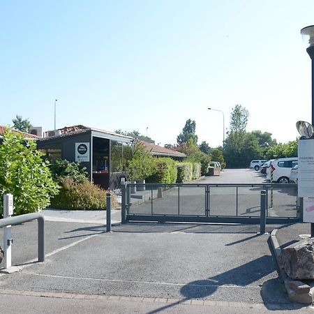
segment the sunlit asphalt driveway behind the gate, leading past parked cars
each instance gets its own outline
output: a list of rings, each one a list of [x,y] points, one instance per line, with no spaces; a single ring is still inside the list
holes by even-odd
[[[227,169],[219,177],[203,177],[193,184],[262,184],[260,172],[251,169]],[[211,187],[209,189],[210,216],[260,216],[260,187]],[[272,202],[271,202],[272,195]],[[297,190],[283,184],[269,190],[268,216],[295,217]],[[129,214],[205,215],[205,187],[175,187],[164,190],[163,198],[144,204],[130,205]],[[272,204],[272,206],[271,206]]]

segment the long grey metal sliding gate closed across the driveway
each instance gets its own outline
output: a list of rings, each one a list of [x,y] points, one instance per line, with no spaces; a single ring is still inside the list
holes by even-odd
[[[297,223],[297,184],[123,184],[122,223],[260,223],[267,191],[267,223]]]

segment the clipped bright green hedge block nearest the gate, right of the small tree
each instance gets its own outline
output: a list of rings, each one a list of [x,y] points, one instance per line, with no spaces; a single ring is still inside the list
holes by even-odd
[[[155,172],[146,181],[150,183],[175,183],[177,181],[176,162],[171,158],[156,158]]]

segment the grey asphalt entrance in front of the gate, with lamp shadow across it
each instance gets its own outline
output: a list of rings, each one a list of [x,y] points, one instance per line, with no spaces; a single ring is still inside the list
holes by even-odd
[[[237,170],[229,174],[235,178]],[[287,299],[258,225],[130,223],[105,233],[86,215],[81,223],[75,213],[46,221],[43,263],[31,262],[36,221],[13,226],[13,264],[22,268],[0,275],[1,313],[311,311]]]

